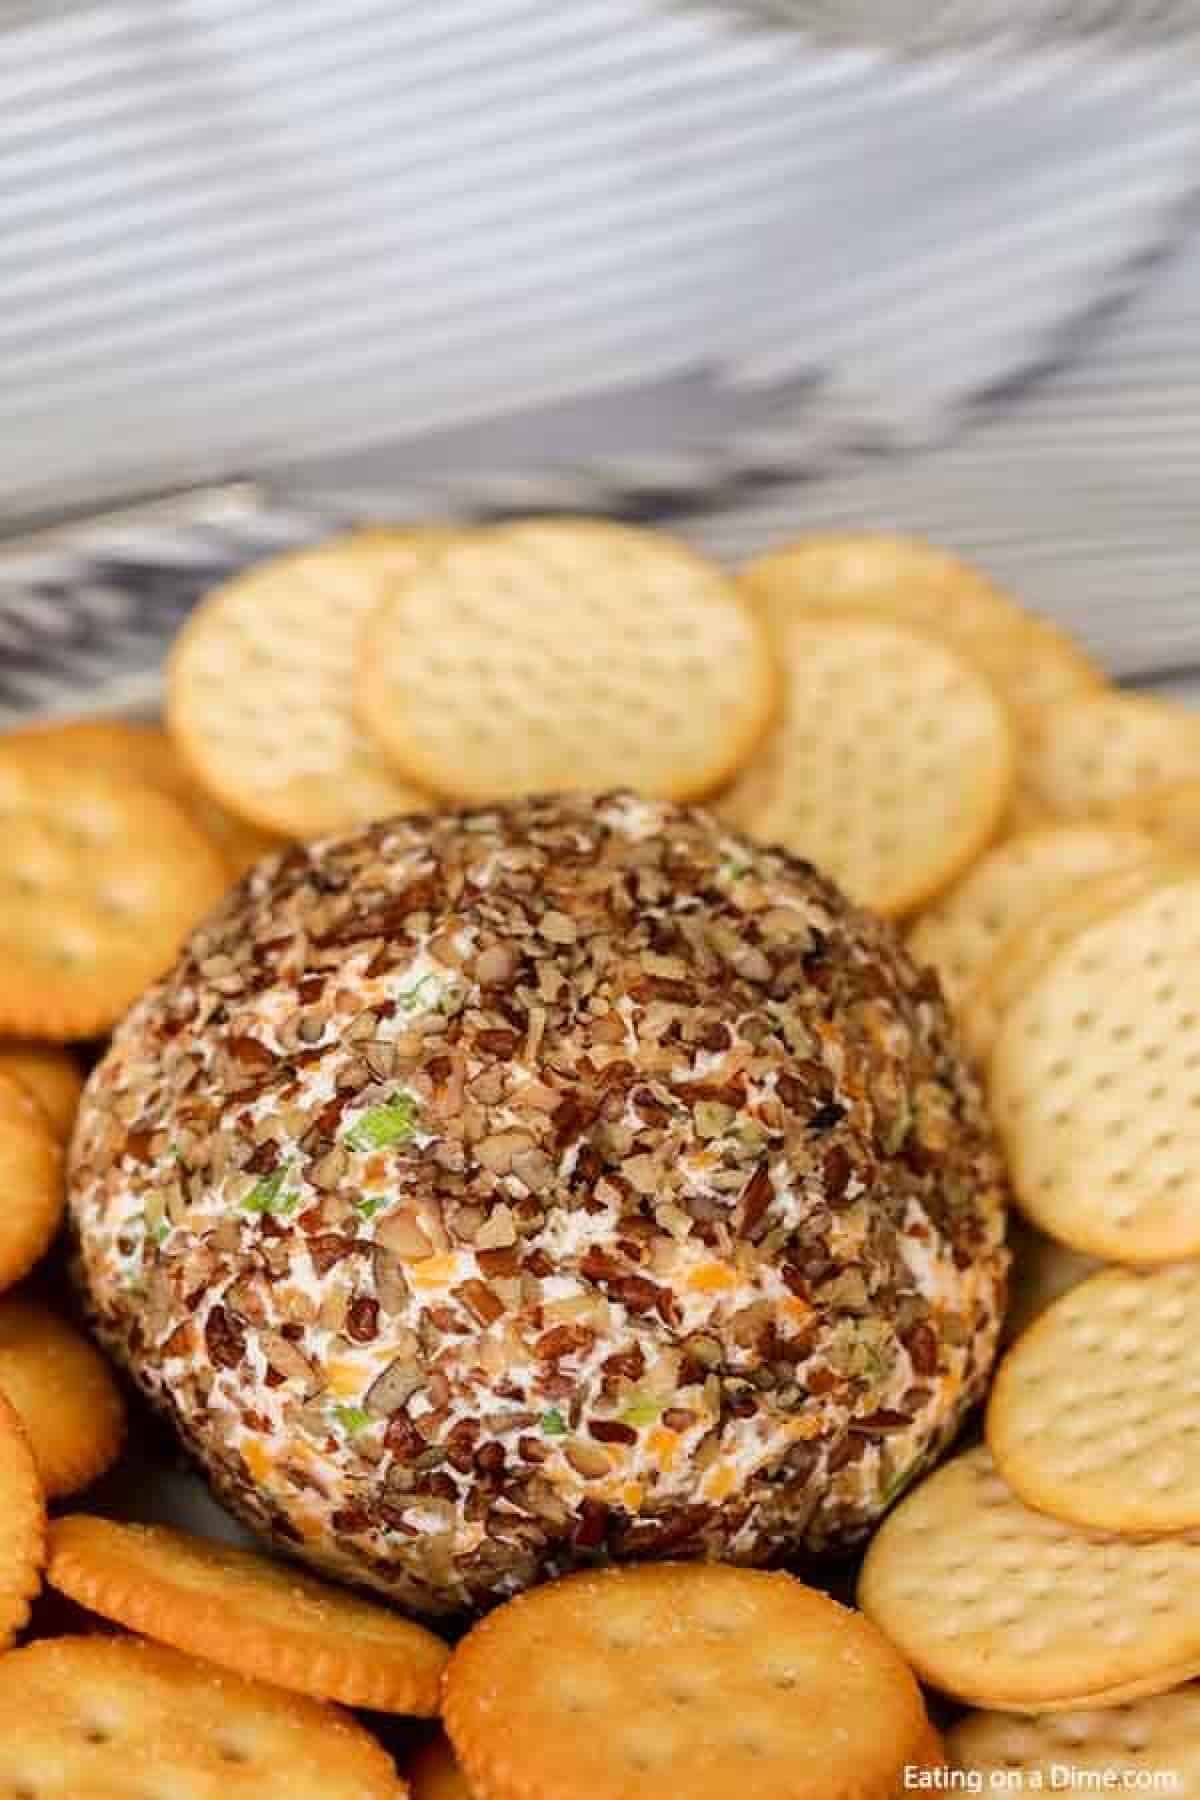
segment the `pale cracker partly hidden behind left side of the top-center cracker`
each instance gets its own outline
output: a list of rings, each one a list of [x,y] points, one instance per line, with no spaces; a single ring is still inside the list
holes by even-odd
[[[426,556],[419,535],[408,565]],[[340,832],[426,801],[356,725],[358,637],[399,580],[338,538],[257,563],[216,589],[175,641],[167,725],[223,806],[284,837]]]

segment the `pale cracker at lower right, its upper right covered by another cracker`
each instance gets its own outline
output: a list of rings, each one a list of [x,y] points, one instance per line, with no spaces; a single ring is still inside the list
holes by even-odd
[[[1200,1537],[1051,1519],[979,1447],[883,1521],[858,1604],[923,1681],[968,1705],[1042,1712],[1166,1690],[1200,1669]]]

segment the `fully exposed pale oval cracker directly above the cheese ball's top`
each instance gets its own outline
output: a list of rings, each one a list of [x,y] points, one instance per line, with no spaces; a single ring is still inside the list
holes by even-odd
[[[766,729],[766,635],[720,569],[599,520],[452,544],[363,635],[360,715],[414,781],[491,801],[711,794]]]

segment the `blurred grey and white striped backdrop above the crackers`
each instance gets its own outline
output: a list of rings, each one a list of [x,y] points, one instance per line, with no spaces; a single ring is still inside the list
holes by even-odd
[[[1200,671],[1200,5],[0,0],[0,715],[227,569],[928,535]]]

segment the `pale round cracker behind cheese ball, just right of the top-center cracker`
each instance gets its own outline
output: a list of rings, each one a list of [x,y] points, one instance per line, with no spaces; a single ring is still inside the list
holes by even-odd
[[[984,848],[1013,733],[954,650],[874,616],[793,614],[779,722],[720,812],[808,857],[880,913],[910,913]]]

